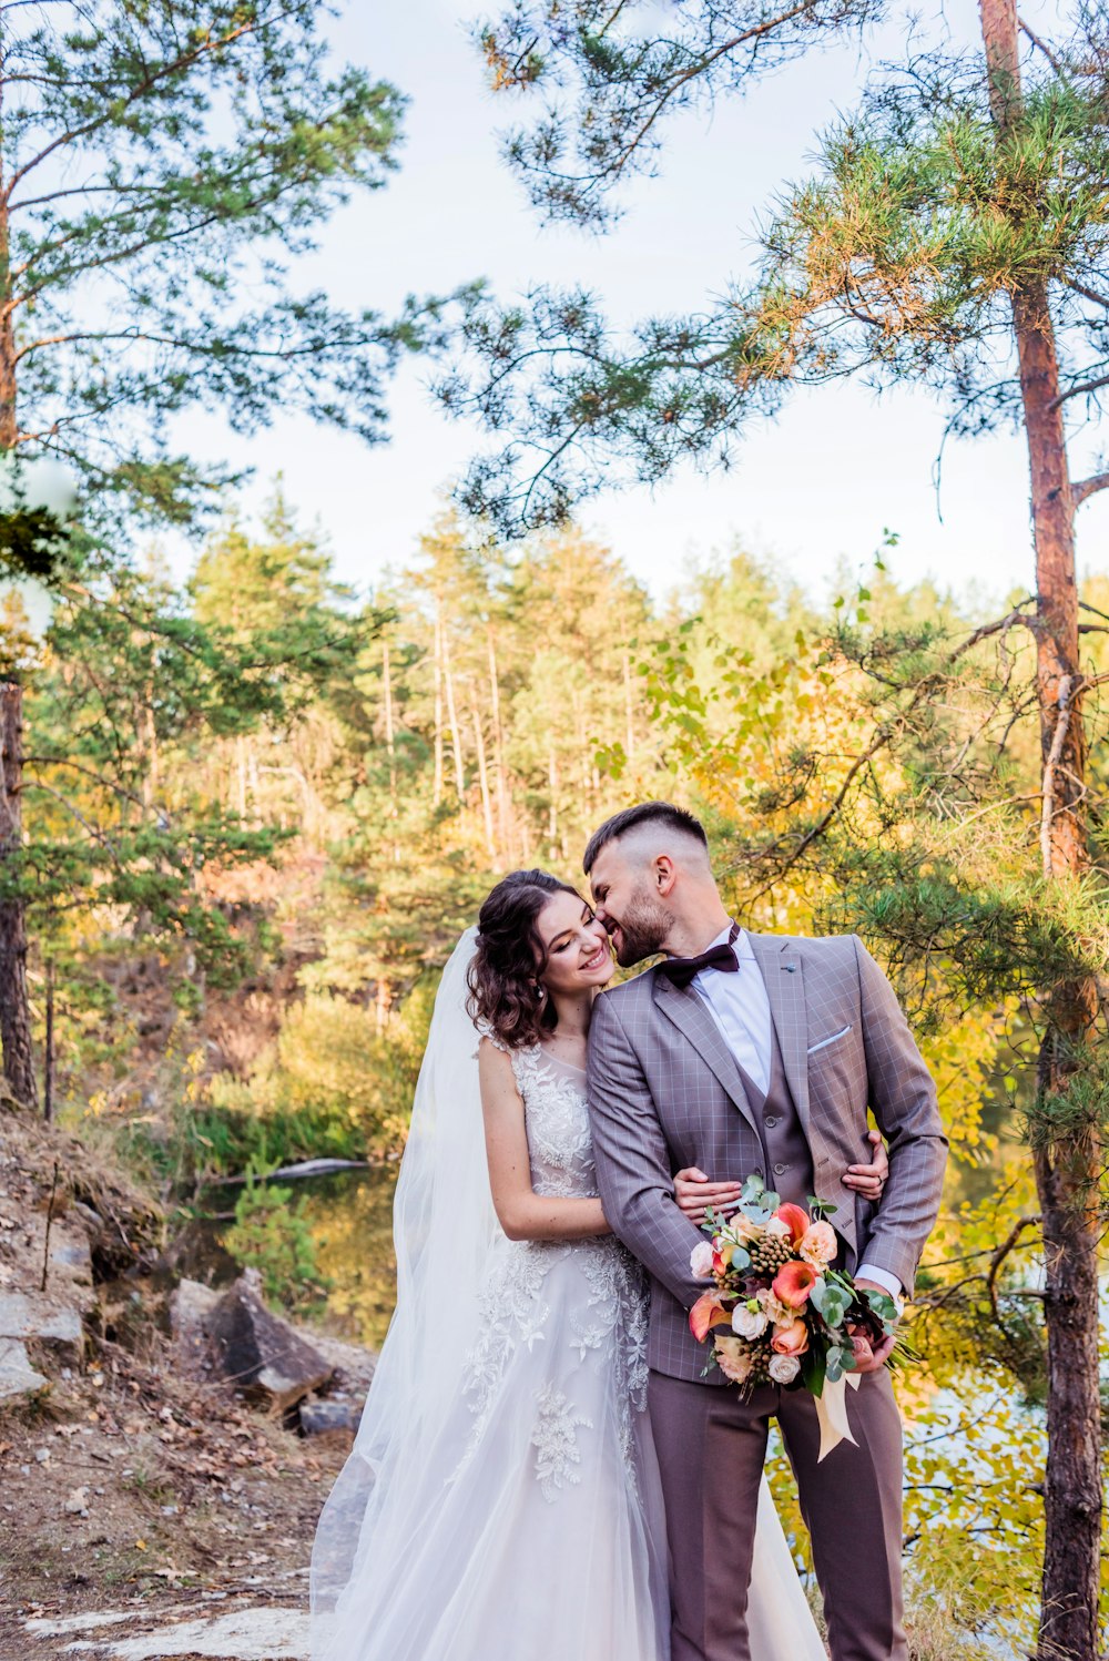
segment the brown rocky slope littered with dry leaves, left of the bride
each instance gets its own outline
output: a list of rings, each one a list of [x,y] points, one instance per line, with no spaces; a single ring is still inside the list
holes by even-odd
[[[164,1287],[141,1196],[81,1156],[0,1113],[0,1658],[299,1661],[372,1357],[249,1279]]]

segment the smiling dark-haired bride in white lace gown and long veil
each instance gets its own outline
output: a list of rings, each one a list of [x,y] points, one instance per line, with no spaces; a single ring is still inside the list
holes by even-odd
[[[505,877],[447,965],[397,1184],[397,1314],[312,1555],[312,1661],[669,1656],[646,1296],[586,1113],[611,973],[603,927],[543,870]],[[875,1158],[843,1181],[877,1194]],[[684,1171],[676,1198],[701,1218],[739,1188]],[[765,1483],[749,1626],[752,1661],[825,1658]]]

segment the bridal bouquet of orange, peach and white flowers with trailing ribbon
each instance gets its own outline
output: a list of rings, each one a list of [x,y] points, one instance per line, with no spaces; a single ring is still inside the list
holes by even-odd
[[[762,1178],[750,1176],[730,1219],[707,1213],[702,1227],[712,1239],[689,1259],[697,1279],[714,1282],[689,1311],[699,1342],[714,1334],[709,1365],[745,1392],[757,1384],[812,1390],[822,1458],[843,1437],[855,1440],[843,1405],[843,1384],[858,1387],[850,1377],[853,1332],[877,1347],[896,1325],[887,1292],[857,1287],[832,1269],[838,1241],[825,1213],[833,1209],[818,1199],[809,1211],[779,1204]]]

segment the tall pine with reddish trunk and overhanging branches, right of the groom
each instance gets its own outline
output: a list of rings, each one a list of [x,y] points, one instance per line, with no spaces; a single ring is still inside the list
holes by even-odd
[[[588,3],[564,18],[546,0],[516,5],[483,33],[493,80],[558,85],[559,100],[513,136],[510,161],[546,213],[608,224],[613,186],[654,169],[676,108],[740,91],[865,17],[704,0],[662,35],[634,7]],[[911,61],[872,78],[823,136],[815,174],[760,233],[754,281],[629,334],[586,294],[538,291],[511,309],[478,296],[471,359],[443,395],[511,432],[463,493],[501,523],[558,518],[619,470],[652,482],[681,458],[729,458],[745,422],[774,414],[797,384],[918,384],[948,400],[955,430],[1016,422],[1036,558],[1036,593],[1018,615],[1038,656],[1041,880],[1077,897],[1096,857],[1084,716],[1096,676],[1079,653],[1074,517],[1109,473],[1072,477],[1067,415],[1096,422],[1109,385],[1109,35],[1104,12],[1084,7],[1054,42],[1018,18],[1014,0],[981,0],[980,22],[978,55],[915,37]],[[1072,962],[1059,977],[1044,962],[1039,988],[1038,1111],[1059,1131],[1034,1138],[1051,1440],[1041,1661],[1099,1649],[1092,1194],[1104,1116],[1091,1083],[1097,977],[1081,953]]]

